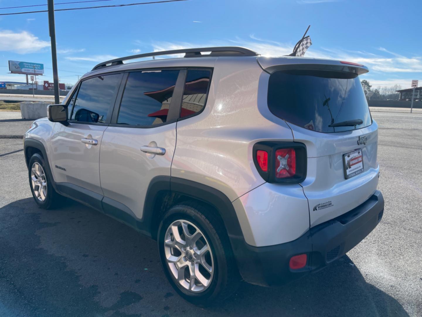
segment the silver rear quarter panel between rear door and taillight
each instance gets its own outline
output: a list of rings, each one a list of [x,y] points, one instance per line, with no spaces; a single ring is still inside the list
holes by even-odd
[[[283,120],[260,115],[262,73],[256,58],[219,57],[203,112],[177,123],[172,176],[212,186],[230,201],[264,183],[252,159],[254,143],[292,141],[292,132]]]

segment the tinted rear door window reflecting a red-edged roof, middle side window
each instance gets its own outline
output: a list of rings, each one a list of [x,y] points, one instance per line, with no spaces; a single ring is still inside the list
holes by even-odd
[[[167,120],[178,70],[136,71],[127,77],[117,123],[152,126]]]

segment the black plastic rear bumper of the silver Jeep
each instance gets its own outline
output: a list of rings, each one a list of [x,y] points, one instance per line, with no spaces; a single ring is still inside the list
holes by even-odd
[[[252,284],[277,286],[319,271],[362,241],[379,223],[383,211],[384,198],[376,191],[358,207],[288,243],[254,247],[232,238],[241,276]],[[290,258],[303,253],[307,254],[306,266],[291,270]]]

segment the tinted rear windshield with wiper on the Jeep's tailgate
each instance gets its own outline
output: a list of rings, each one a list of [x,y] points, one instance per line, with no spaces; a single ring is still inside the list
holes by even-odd
[[[268,107],[277,117],[317,132],[350,131],[372,123],[362,85],[355,74],[276,71],[268,83]],[[330,127],[357,119],[362,124]]]

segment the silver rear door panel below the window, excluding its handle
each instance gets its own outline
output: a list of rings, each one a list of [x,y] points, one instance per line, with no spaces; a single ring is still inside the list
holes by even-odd
[[[141,146],[150,142],[165,148],[165,154],[142,152]],[[104,196],[122,203],[142,219],[149,184],[155,176],[170,176],[175,147],[176,123],[154,128],[109,126],[104,132],[100,153]]]

